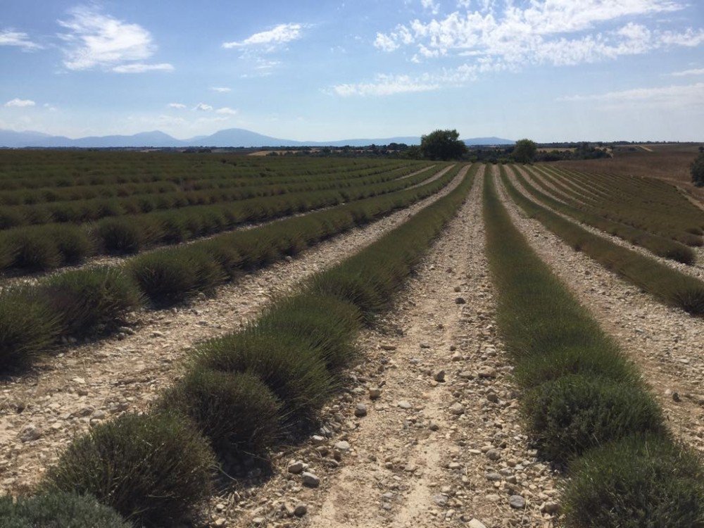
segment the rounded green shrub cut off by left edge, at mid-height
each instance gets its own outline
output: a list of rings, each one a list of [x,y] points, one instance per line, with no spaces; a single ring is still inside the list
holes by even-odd
[[[54,310],[28,287],[0,294],[0,372],[25,367],[46,352],[60,326]]]

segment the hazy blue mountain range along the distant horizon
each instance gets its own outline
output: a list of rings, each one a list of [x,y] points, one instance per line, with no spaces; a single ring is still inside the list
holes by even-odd
[[[513,145],[515,142],[500,137],[473,137],[465,139],[467,145]],[[42,132],[14,132],[13,130],[0,130],[0,146],[23,148],[37,146],[73,147],[73,148],[108,148],[108,147],[188,147],[188,146],[214,146],[214,147],[260,147],[260,146],[366,146],[388,145],[390,143],[405,143],[407,145],[420,144],[420,137],[386,137],[383,139],[341,139],[330,142],[297,142],[291,139],[279,139],[264,136],[244,130],[242,128],[229,128],[220,130],[209,136],[198,136],[191,139],[176,139],[169,134],[154,130],[141,132],[132,136],[92,136],[71,139],[64,136],[50,136]]]

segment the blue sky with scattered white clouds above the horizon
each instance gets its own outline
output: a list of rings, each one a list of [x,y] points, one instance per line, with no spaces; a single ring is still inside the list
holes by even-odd
[[[3,0],[0,129],[704,141],[703,0]]]

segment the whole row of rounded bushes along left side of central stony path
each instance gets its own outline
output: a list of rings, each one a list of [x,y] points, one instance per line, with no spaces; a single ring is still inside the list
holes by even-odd
[[[476,170],[476,169],[475,169]],[[186,375],[144,415],[123,415],[72,442],[39,491],[95,496],[132,522],[180,520],[210,491],[214,460],[265,456],[341,384],[364,320],[456,213],[473,177],[394,231],[279,299],[246,329],[207,341]]]

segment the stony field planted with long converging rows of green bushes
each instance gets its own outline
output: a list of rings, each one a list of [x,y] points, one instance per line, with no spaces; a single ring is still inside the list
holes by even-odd
[[[0,495],[111,527],[704,523],[704,209],[666,177],[0,151],[0,183]]]

